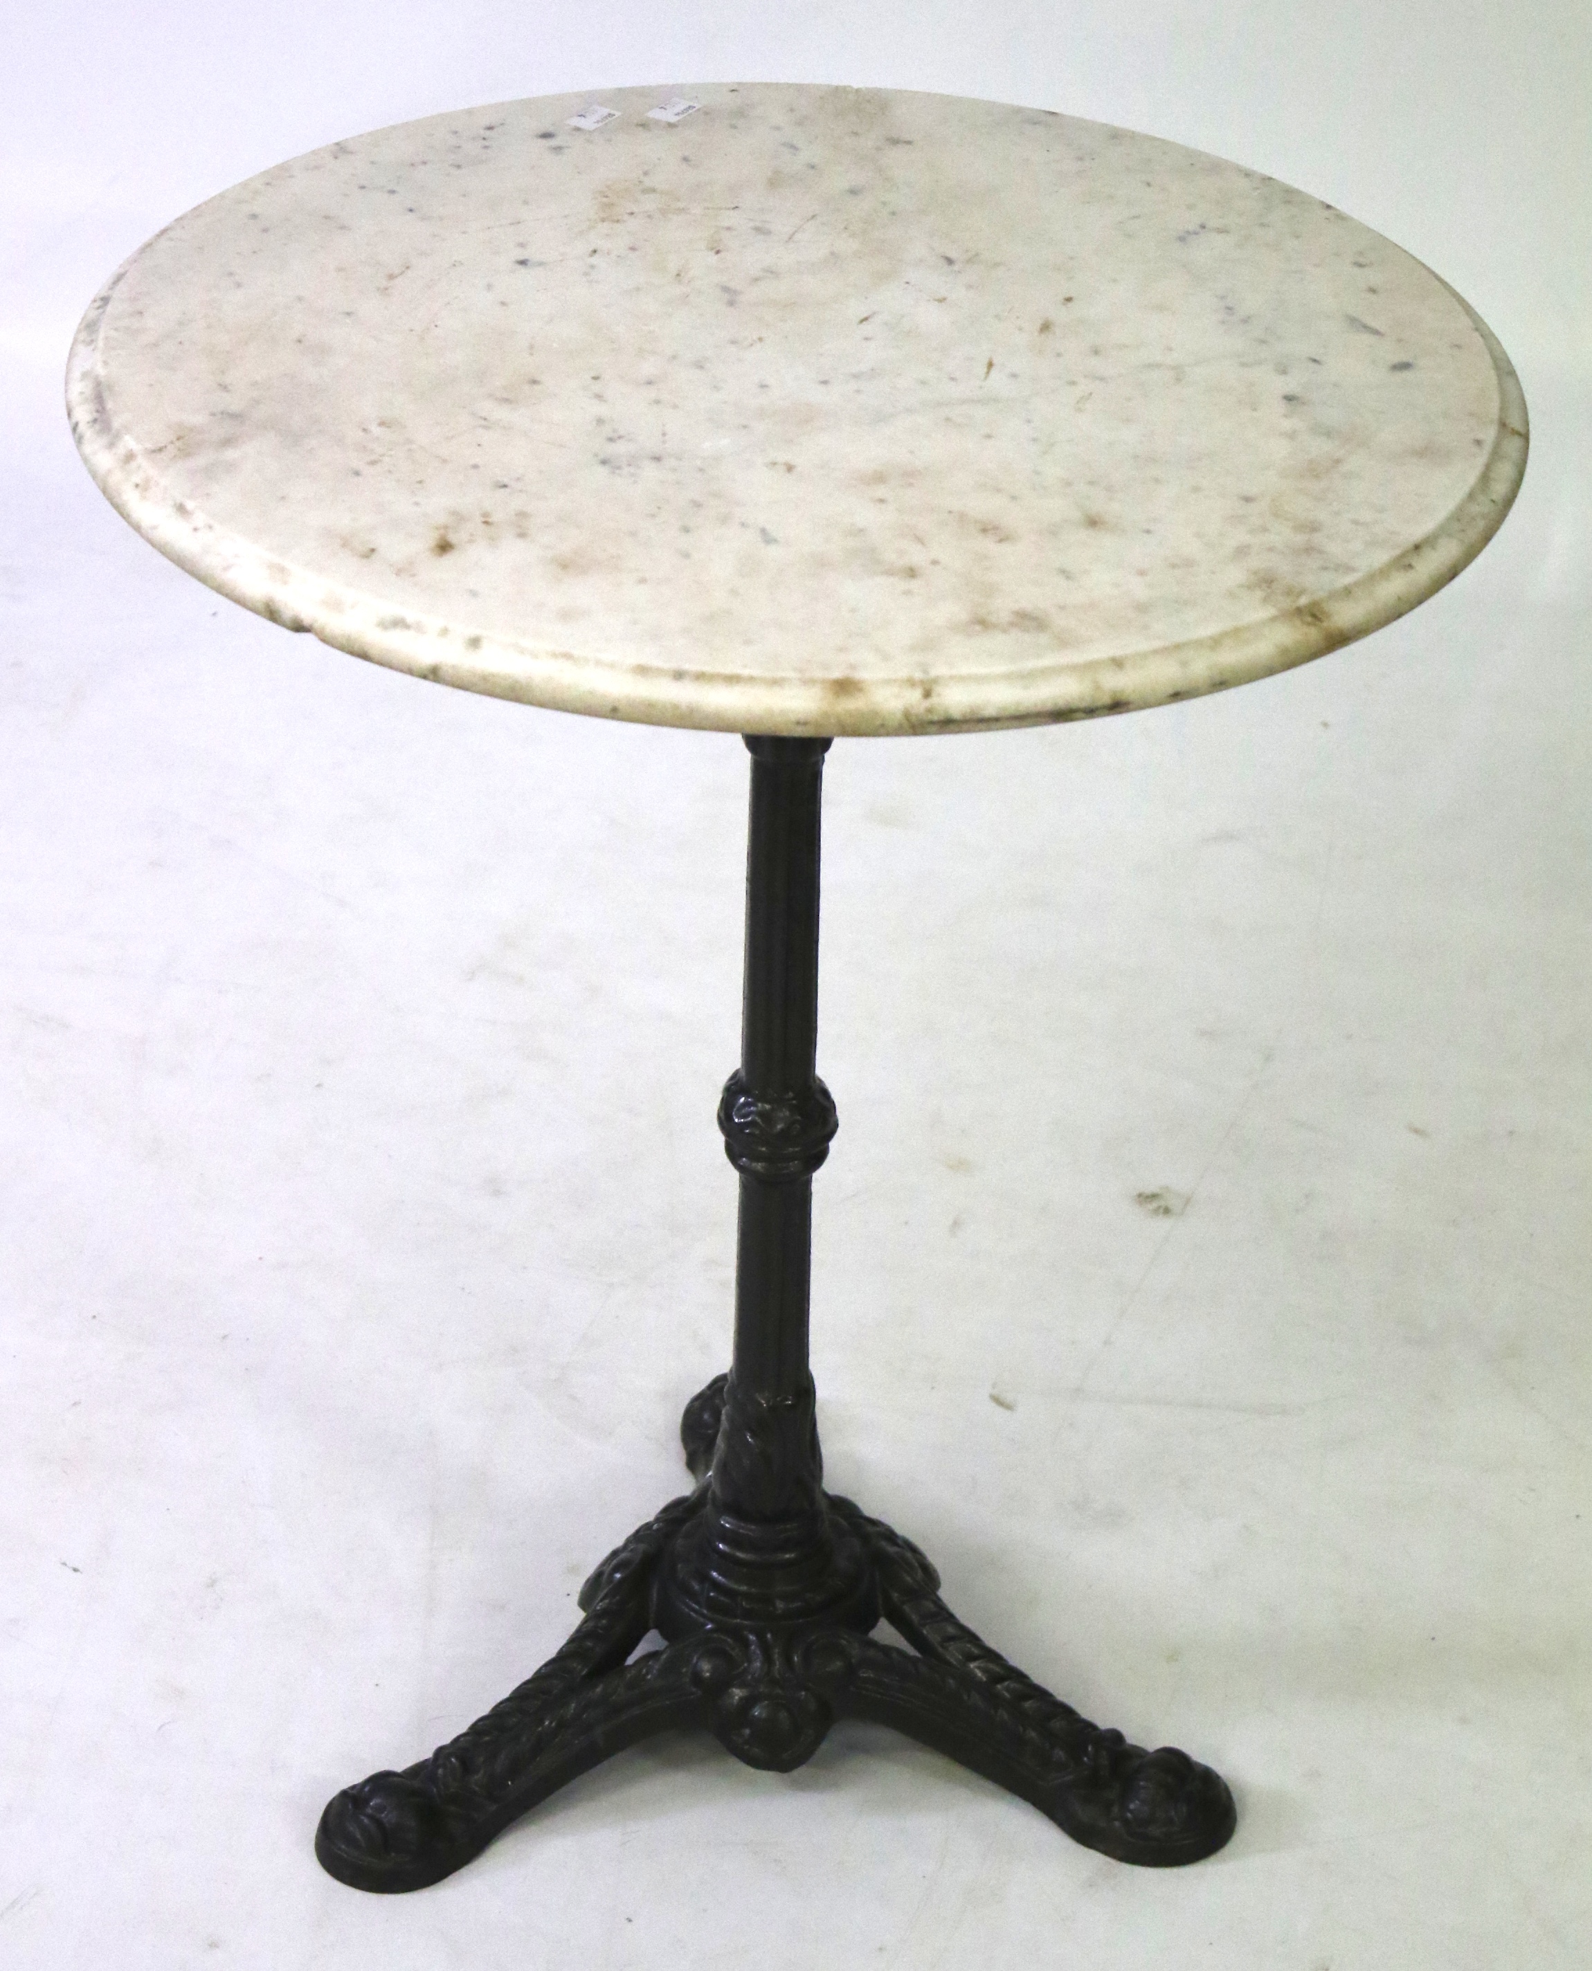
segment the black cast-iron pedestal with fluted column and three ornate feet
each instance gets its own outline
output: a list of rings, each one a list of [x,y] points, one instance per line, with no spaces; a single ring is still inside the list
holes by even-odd
[[[1218,1774],[1025,1677],[958,1622],[910,1539],[824,1490],[808,1279],[812,1175],[835,1133],[814,1072],[828,745],[747,739],[743,1043],[719,1104],[741,1173],[735,1352],[680,1425],[697,1488],[603,1561],[585,1620],[526,1683],[418,1766],[331,1800],[315,1853],[353,1888],[439,1882],[567,1780],[682,1725],[772,1772],[812,1758],[837,1717],[893,1725],[1117,1861],[1200,1861],[1233,1831]],[[873,1642],[881,1618],[912,1648]],[[654,1630],[664,1646],[636,1656]]]

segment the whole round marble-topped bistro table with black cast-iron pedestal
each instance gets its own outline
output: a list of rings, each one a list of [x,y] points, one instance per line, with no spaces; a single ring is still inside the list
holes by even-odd
[[[67,388],[106,497],[223,595],[422,678],[751,751],[735,1334],[682,1421],[696,1488],[526,1683],[331,1800],[325,1869],[420,1888],[650,1733],[792,1770],[835,1717],[1103,1855],[1220,1849],[1218,1774],[1052,1697],[824,1490],[824,755],[1168,704],[1415,607],[1525,469],[1486,325],[1332,207],[1155,138],[703,85],[266,171],[134,254]]]

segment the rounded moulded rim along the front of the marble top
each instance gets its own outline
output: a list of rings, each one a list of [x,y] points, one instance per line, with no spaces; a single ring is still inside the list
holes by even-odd
[[[99,373],[100,323],[136,258],[89,306],[67,363],[73,438],[93,479],[136,532],[219,595],[351,656],[493,698],[646,725],[790,737],[993,731],[1149,710],[1249,684],[1385,627],[1452,581],[1503,524],[1529,449],[1525,392],[1509,357],[1464,296],[1432,274],[1492,359],[1499,392],[1493,442],[1470,491],[1430,532],[1350,583],[1216,635],[1123,656],[940,676],[928,702],[920,674],[780,678],[632,656],[609,660],[532,637],[461,633],[422,613],[398,613],[378,595],[329,591],[325,578],[229,534],[167,491],[138,443],[116,434]]]

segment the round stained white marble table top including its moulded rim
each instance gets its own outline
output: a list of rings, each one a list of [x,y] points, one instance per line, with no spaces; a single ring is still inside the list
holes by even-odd
[[[615,89],[211,199],[89,309],[122,514],[357,656],[569,712],[906,733],[1361,637],[1525,469],[1472,309],[1330,205],[956,97]]]

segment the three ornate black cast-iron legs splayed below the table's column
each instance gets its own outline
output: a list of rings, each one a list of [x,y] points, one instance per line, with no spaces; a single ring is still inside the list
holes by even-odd
[[[711,1622],[682,1616],[682,1543],[711,1514],[709,1464],[725,1378],[680,1435],[701,1484],[664,1506],[581,1589],[564,1648],[469,1731],[404,1772],[378,1772],[327,1805],[321,1865],[353,1888],[426,1888],[577,1774],[652,1733],[705,1727],[749,1766],[790,1772],[837,1717],[893,1725],[948,1752],[1117,1861],[1176,1867],[1220,1849],[1233,1800],[1208,1766],[1101,1731],[965,1628],[924,1555],[851,1500],[822,1494],[835,1614]],[[792,1579],[788,1559],[782,1579]],[[798,1600],[812,1602],[812,1585]],[[871,1642],[883,1614],[912,1652]],[[662,1650],[632,1652],[652,1628]],[[684,1634],[680,1630],[686,1630]]]

